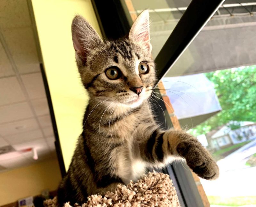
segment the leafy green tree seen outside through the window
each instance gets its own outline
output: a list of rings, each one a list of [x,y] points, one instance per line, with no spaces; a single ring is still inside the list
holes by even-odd
[[[222,110],[189,132],[197,136],[229,121],[256,122],[255,74],[255,65],[205,73],[216,90]]]

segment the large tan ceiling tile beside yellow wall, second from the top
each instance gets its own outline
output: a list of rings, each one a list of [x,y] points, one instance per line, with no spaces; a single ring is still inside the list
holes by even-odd
[[[2,33],[19,73],[40,71],[33,29],[4,29]]]

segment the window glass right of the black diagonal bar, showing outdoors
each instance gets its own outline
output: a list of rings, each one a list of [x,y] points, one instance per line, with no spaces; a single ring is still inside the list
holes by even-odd
[[[196,182],[209,203],[255,205],[256,10],[227,9],[231,14],[222,7],[209,20],[160,89],[181,128],[196,136],[220,167],[219,179]]]

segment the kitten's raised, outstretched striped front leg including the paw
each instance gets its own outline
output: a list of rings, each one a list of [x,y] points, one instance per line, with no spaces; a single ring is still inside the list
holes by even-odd
[[[164,162],[168,156],[181,156],[201,178],[217,179],[219,176],[219,167],[210,153],[195,137],[184,131],[152,131],[145,142],[140,142],[140,154],[144,160],[156,164]]]

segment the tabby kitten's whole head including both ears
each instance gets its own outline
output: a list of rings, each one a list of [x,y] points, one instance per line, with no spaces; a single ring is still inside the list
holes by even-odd
[[[134,22],[129,38],[113,42],[103,42],[81,18],[73,20],[72,35],[77,66],[90,96],[105,103],[139,106],[150,96],[156,82],[148,12],[142,12]]]

